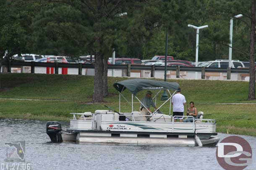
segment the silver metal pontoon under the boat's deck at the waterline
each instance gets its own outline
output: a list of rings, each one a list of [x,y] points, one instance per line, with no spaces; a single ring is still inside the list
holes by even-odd
[[[76,142],[99,144],[126,144],[126,145],[167,145],[167,146],[199,146],[192,135],[166,135],[166,134],[111,134],[95,132],[78,132]],[[205,137],[204,137],[205,138]],[[218,137],[202,139],[202,145],[215,146],[219,142]]]

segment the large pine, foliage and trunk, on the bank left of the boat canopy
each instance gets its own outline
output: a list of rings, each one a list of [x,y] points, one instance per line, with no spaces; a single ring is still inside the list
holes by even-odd
[[[69,56],[87,51],[94,55],[93,101],[102,102],[107,95],[107,60],[117,39],[115,32],[120,22],[117,15],[122,12],[123,0],[45,0],[43,3],[47,2],[54,3],[34,19],[34,50]]]

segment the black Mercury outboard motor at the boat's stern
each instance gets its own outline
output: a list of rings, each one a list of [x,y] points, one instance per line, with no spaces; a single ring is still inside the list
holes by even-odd
[[[46,133],[52,142],[62,142],[60,122],[52,121],[46,124]]]

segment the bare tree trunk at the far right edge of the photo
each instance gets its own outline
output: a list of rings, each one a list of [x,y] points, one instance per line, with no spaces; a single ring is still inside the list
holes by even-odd
[[[256,0],[251,1],[251,49],[250,49],[250,81],[248,100],[255,99],[255,3]]]

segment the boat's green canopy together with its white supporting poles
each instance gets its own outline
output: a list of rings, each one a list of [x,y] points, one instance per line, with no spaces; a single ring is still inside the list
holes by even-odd
[[[170,107],[169,107],[169,115],[171,115],[171,104],[172,104],[172,96],[177,92],[179,88],[179,84],[176,82],[167,82],[167,81],[157,81],[157,80],[151,80],[151,79],[128,79],[124,81],[119,81],[113,85],[115,89],[119,93],[119,112],[121,112],[121,96],[129,103],[128,99],[123,96],[122,92],[125,89],[128,89],[131,91],[131,113],[133,113],[133,96],[139,101],[139,103],[147,109],[149,112],[149,109],[144,106],[144,104],[138,99],[136,96],[139,91],[142,90],[159,90],[157,94],[154,95],[152,98],[153,100],[155,99],[155,104],[157,104],[157,95],[162,91],[162,90],[167,90],[168,93],[170,94],[170,97],[160,106],[158,107],[157,110],[159,110],[163,105],[167,103],[167,101],[170,100]],[[170,90],[175,90],[174,93],[171,94]],[[155,110],[153,113],[149,112],[150,115],[154,114],[157,112]]]

